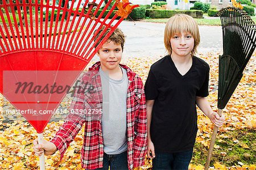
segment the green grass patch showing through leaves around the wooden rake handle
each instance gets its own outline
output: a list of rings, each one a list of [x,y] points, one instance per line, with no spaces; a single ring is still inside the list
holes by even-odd
[[[196,142],[192,164],[203,165],[206,161],[208,149]],[[238,165],[238,161],[245,164],[256,163],[256,136],[254,130],[247,128],[229,132],[219,132],[213,149],[211,166],[222,160],[226,167]]]

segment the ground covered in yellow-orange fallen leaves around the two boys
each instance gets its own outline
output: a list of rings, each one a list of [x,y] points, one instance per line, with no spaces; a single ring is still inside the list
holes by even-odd
[[[209,102],[217,110],[218,55],[205,53],[198,56],[210,65]],[[160,57],[126,58],[122,63],[146,81],[152,63]],[[91,65],[91,63],[90,63]],[[256,70],[255,54],[251,57],[244,71],[242,81],[238,85],[228,105],[224,109],[226,124],[219,128],[214,146],[212,169],[254,169],[256,165]],[[68,107],[68,99],[61,107]],[[27,122],[5,121],[3,114],[12,106],[0,96],[0,169],[38,169],[39,159],[32,152],[32,141],[37,138],[36,131]],[[55,120],[55,119],[54,119]],[[56,119],[57,120],[57,119]],[[55,135],[63,121],[50,122],[44,130],[44,137],[49,140]],[[203,169],[207,157],[213,125],[209,119],[198,111],[199,131],[194,148],[194,156],[189,166],[191,169]],[[80,150],[82,133],[71,143],[63,160],[59,161],[59,152],[46,156],[46,169],[81,169]],[[151,161],[137,169],[150,169]]]

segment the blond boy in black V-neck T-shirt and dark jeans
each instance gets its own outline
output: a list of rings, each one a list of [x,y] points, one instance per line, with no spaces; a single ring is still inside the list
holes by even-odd
[[[145,84],[148,148],[153,169],[188,169],[197,134],[196,105],[220,127],[210,107],[209,65],[195,56],[199,28],[189,15],[172,16],[164,31],[168,55],[154,63]]]

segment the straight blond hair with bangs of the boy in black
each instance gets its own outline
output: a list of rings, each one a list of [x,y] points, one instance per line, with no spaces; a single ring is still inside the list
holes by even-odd
[[[181,32],[189,32],[193,36],[195,41],[191,55],[194,56],[197,52],[197,46],[200,43],[199,28],[196,20],[186,14],[176,14],[172,16],[166,24],[166,28],[164,30],[164,45],[166,46],[168,54],[171,55],[172,53],[172,36]]]

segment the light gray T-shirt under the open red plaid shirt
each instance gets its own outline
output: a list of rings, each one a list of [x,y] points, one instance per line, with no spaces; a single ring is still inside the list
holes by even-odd
[[[121,154],[127,150],[126,98],[128,78],[125,69],[121,68],[121,80],[109,78],[100,68],[102,83],[102,133],[104,152],[109,155]]]

